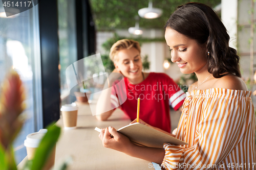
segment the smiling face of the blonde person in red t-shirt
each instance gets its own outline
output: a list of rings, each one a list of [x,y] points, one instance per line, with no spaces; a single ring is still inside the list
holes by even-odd
[[[143,81],[142,77],[142,61],[139,51],[132,47],[123,49],[117,53],[117,61],[115,67],[119,69],[123,76],[127,77],[130,82],[137,84]]]

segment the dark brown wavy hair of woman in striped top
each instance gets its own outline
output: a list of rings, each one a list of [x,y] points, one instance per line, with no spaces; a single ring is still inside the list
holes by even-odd
[[[195,39],[199,45],[206,44],[208,71],[215,78],[233,74],[241,78],[239,56],[229,47],[227,30],[214,10],[201,3],[186,3],[177,8],[166,22],[171,28]]]

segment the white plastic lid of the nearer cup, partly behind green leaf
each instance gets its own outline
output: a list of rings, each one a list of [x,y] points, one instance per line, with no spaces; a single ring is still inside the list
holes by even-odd
[[[40,129],[39,132],[28,134],[26,140],[24,141],[25,147],[37,148],[41,139],[45,136],[46,133],[47,129]]]

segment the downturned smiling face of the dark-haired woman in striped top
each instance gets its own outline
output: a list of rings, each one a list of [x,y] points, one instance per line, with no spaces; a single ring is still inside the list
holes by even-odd
[[[166,28],[165,40],[170,47],[172,62],[178,64],[183,74],[207,71],[206,46],[170,28]]]

